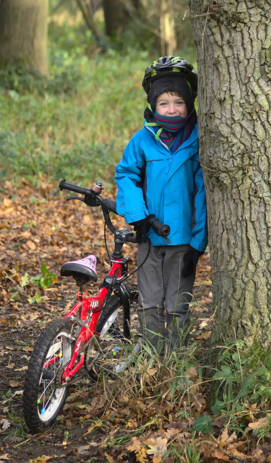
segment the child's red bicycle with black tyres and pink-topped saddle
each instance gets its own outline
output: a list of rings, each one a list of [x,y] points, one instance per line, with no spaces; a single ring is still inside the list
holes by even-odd
[[[131,338],[135,325],[138,325],[134,315],[138,290],[125,283],[130,276],[128,258],[121,252],[126,241],[138,242],[133,232],[126,228],[117,230],[112,224],[109,212],[117,213],[116,203],[102,198],[101,182],[97,181],[92,188],[81,188],[64,179],[60,181],[59,188],[84,195],[84,198],[68,197],[67,201],[80,200],[88,206],[102,206],[104,231],[107,225],[114,233],[115,246],[111,258],[108,253],[111,269],[96,297],[89,296],[87,290],[83,292],[87,282],[97,281],[96,264],[99,259],[96,256],[64,263],[60,269],[60,275],[72,276],[78,283],[78,302],[64,319],[56,319],[46,326],[30,357],[24,381],[23,411],[25,422],[32,432],[41,432],[53,424],[65,404],[73,376],[83,365],[90,376],[97,379],[101,364],[112,360],[121,363],[121,346]],[[168,225],[161,224],[156,218],[150,219],[150,225],[170,242],[167,238],[170,232]],[[131,343],[129,347],[132,350]]]

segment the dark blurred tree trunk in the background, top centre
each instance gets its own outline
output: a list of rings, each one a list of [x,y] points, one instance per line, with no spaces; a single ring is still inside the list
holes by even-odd
[[[103,11],[106,35],[114,37],[117,32],[126,29],[130,17],[120,0],[104,0]]]

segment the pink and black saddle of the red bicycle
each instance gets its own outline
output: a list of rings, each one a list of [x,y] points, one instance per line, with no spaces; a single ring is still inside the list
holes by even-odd
[[[73,276],[75,279],[78,275],[84,275],[89,281],[97,281],[96,265],[99,258],[90,254],[90,256],[79,259],[78,261],[66,262],[60,269],[61,276]]]

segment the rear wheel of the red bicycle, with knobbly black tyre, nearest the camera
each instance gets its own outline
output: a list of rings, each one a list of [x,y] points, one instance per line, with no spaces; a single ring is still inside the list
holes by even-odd
[[[49,323],[31,355],[23,394],[24,419],[31,432],[52,425],[65,404],[69,386],[61,387],[61,375],[72,358],[71,330],[66,320]]]

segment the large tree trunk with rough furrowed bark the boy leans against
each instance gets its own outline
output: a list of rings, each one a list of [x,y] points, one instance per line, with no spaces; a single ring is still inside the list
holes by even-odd
[[[190,0],[208,208],[211,346],[271,345],[271,0]],[[207,14],[208,13],[208,14]]]

